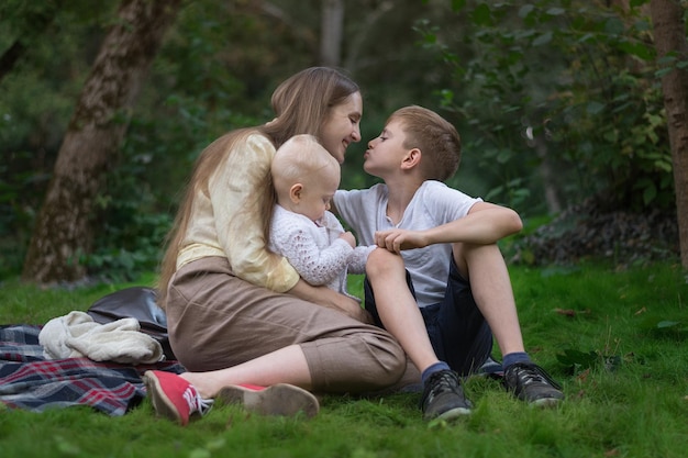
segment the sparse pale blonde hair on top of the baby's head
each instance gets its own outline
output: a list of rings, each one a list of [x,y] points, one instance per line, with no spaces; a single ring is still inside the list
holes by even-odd
[[[313,179],[339,178],[340,163],[328,152],[313,135],[295,135],[285,142],[273,158],[270,165],[275,189],[289,189],[297,182]]]

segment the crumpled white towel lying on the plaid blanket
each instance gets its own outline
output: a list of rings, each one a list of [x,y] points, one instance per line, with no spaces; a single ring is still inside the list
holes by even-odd
[[[99,324],[88,313],[74,311],[48,321],[38,343],[47,359],[87,357],[134,365],[165,359],[160,344],[140,329],[136,319]]]

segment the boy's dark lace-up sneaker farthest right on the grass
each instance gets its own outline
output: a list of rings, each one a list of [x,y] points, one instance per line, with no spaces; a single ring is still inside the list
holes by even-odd
[[[564,399],[562,387],[533,362],[509,366],[504,371],[504,384],[518,399],[534,405],[555,405]]]

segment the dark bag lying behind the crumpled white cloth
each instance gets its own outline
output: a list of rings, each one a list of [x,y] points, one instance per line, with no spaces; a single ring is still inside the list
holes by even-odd
[[[108,294],[93,302],[86,311],[96,323],[106,324],[121,319],[138,320],[141,332],[160,343],[167,360],[175,360],[167,335],[167,315],[156,302],[154,289],[145,287],[126,288]]]

